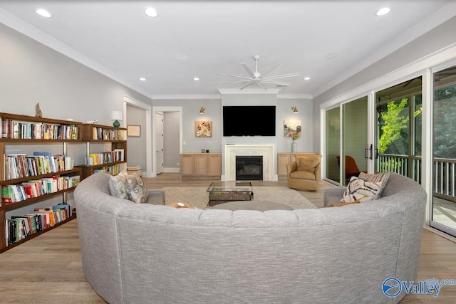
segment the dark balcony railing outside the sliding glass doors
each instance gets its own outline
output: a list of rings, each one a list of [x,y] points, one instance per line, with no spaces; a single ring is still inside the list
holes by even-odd
[[[378,154],[378,171],[396,172],[421,184],[421,157]],[[456,159],[434,158],[432,189],[434,195],[456,201]]]

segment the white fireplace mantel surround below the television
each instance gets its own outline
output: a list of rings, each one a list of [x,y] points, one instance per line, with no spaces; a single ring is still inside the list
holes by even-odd
[[[236,157],[244,155],[261,155],[263,180],[274,181],[274,145],[225,145],[225,180],[236,180]]]

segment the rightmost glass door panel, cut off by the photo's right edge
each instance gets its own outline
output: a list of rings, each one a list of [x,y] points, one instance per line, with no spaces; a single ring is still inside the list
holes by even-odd
[[[433,74],[432,217],[456,236],[456,65]]]

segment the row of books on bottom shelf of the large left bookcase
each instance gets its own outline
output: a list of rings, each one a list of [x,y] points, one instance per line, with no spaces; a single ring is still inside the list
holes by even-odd
[[[6,246],[25,239],[27,236],[51,228],[73,215],[68,204],[53,205],[51,208],[35,208],[24,216],[11,216],[5,220]]]

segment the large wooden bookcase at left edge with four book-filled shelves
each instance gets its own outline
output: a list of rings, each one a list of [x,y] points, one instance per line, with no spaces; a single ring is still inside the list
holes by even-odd
[[[66,145],[81,142],[81,125],[81,122],[0,112],[0,253],[76,218],[72,207],[66,204],[66,196],[76,188],[82,170],[73,167],[74,159],[66,155]],[[61,146],[63,153],[30,153],[33,147],[43,149],[51,145]],[[63,204],[43,207],[58,196],[62,196]],[[31,217],[24,214],[9,219],[9,212],[26,206],[31,208]],[[26,218],[30,220],[27,222]],[[35,225],[32,229],[33,219],[36,224],[38,221],[42,224],[39,230]],[[9,243],[11,222],[24,225],[24,234],[16,236],[14,243]]]

